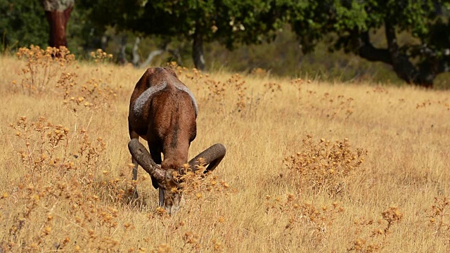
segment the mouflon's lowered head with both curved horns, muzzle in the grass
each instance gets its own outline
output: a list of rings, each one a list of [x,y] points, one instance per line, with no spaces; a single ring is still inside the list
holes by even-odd
[[[150,176],[153,176],[153,178],[158,181],[158,186],[160,187],[160,205],[162,205],[169,214],[176,213],[184,202],[180,176],[185,170],[183,168],[174,167],[162,169],[160,165],[153,162],[150,153],[148,153],[147,149],[137,139],[129,141],[128,148],[139,165],[141,165]],[[214,144],[189,161],[189,167],[195,171],[199,158],[201,157],[205,164],[209,164],[205,172],[212,171],[219,165],[224,158],[225,153],[226,149],[224,145],[219,143]]]

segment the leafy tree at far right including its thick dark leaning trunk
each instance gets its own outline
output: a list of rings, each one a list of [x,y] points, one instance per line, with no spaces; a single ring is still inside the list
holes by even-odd
[[[343,48],[392,65],[406,82],[432,86],[437,74],[450,70],[448,0],[279,1],[307,53],[328,34],[332,50]],[[376,48],[369,32],[385,30],[387,46]],[[399,32],[416,43],[400,45]]]

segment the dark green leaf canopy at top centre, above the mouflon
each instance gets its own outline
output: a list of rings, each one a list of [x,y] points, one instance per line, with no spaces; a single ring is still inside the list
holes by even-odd
[[[88,5],[87,1],[80,1]],[[283,13],[275,1],[96,1],[89,18],[97,25],[111,25],[142,34],[190,39],[195,32],[205,41],[219,41],[232,48],[236,42],[259,43],[273,39],[282,26]]]

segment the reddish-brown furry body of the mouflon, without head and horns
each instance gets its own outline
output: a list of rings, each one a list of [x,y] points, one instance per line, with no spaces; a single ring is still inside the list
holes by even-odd
[[[139,96],[150,86],[164,82],[167,86],[151,96],[143,104],[141,115],[136,115],[134,105]],[[145,139],[152,159],[166,171],[179,169],[188,161],[189,145],[197,132],[195,102],[188,93],[177,89],[176,86],[184,84],[173,70],[149,68],[137,82],[129,107],[130,138]],[[161,153],[164,155],[164,161],[161,159]],[[155,179],[153,186],[158,188]]]

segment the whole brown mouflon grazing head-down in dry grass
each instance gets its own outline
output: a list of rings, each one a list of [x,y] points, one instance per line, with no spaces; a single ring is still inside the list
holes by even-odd
[[[182,199],[174,172],[182,174],[186,163],[195,170],[200,157],[209,164],[206,171],[212,171],[226,153],[224,145],[215,144],[188,162],[189,145],[197,134],[197,113],[193,94],[169,68],[146,70],[131,94],[128,147],[134,164],[133,179],[137,179],[139,164],[150,174],[153,186],[159,188],[159,204],[169,214],[178,211]],[[150,153],[139,143],[139,137],[147,141]]]

